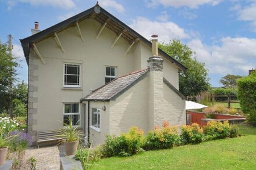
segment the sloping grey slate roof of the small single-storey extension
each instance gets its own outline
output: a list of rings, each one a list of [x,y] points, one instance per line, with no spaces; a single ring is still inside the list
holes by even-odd
[[[113,79],[108,84],[95,89],[92,93],[83,97],[81,101],[109,101],[115,100],[116,97],[122,95],[131,86],[135,85],[138,81],[143,79],[147,73],[148,68],[145,70],[135,71],[128,75]]]

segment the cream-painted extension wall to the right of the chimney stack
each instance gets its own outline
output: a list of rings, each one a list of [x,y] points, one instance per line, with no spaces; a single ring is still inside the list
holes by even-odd
[[[164,120],[170,125],[186,125],[185,101],[163,83]]]

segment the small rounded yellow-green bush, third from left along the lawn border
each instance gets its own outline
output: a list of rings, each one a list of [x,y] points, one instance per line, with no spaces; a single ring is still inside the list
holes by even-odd
[[[198,124],[184,125],[182,126],[181,140],[183,144],[191,143],[197,144],[201,143],[204,138],[204,133]]]

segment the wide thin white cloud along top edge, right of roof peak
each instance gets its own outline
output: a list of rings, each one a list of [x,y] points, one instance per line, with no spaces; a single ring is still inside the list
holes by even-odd
[[[173,6],[179,8],[181,6],[187,6],[189,8],[198,8],[200,5],[210,4],[212,6],[218,5],[223,0],[150,0],[146,2],[149,8],[162,4],[163,6]]]

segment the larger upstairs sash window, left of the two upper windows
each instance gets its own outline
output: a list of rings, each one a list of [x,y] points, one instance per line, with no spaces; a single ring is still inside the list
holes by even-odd
[[[80,88],[80,64],[64,64],[64,87]]]

